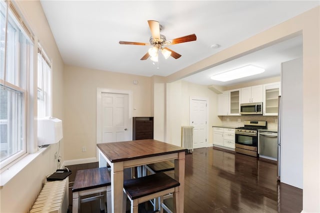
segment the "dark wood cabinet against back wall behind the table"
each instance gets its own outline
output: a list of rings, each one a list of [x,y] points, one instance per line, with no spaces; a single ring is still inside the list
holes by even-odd
[[[132,140],[153,139],[153,117],[133,117]]]

